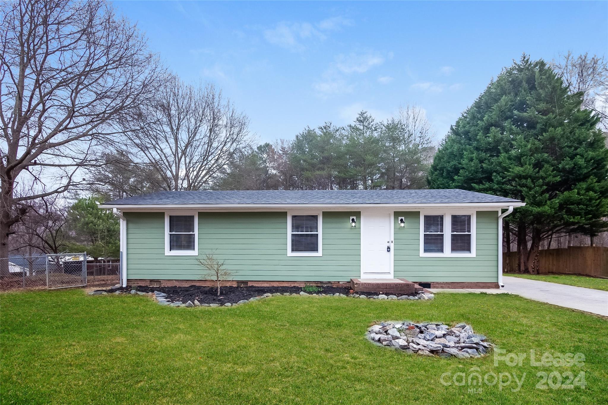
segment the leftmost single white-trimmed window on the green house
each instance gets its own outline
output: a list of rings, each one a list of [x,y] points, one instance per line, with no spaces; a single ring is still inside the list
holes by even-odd
[[[198,256],[198,213],[165,212],[165,256]]]

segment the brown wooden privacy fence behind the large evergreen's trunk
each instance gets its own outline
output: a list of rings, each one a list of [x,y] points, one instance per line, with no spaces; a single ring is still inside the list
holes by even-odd
[[[608,247],[572,246],[563,249],[541,250],[540,274],[583,274],[585,276],[608,277]],[[503,253],[502,270],[517,271],[517,252]]]

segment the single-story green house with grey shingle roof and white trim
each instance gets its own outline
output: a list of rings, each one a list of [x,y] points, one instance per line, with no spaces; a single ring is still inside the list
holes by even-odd
[[[502,285],[502,219],[524,203],[459,189],[162,191],[108,203],[120,217],[123,285],[410,281]],[[207,281],[208,282],[208,281]]]

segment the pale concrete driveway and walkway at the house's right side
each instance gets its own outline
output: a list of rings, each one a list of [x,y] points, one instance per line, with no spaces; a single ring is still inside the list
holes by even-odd
[[[535,301],[559,305],[560,307],[574,308],[581,311],[608,316],[608,291],[592,290],[592,288],[582,288],[575,287],[573,285],[556,284],[546,281],[536,281],[508,276],[503,277],[503,282],[505,283],[505,287],[500,288],[500,290],[497,290],[496,288],[493,290],[478,290],[474,288],[461,290],[434,288],[432,291],[438,293],[510,293],[517,294],[525,298],[534,299]]]

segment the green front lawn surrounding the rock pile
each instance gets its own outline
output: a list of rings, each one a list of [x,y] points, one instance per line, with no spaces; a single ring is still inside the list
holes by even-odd
[[[407,355],[370,344],[374,321],[470,322],[522,367]],[[606,403],[608,322],[508,294],[433,301],[281,296],[235,308],[167,308],[82,290],[0,294],[1,403]],[[532,367],[529,349],[584,353]],[[472,367],[509,387],[444,386]],[[537,389],[537,372],[585,373],[586,388]],[[506,376],[504,377],[506,381]],[[449,376],[444,381],[452,381]],[[492,381],[492,378],[490,378]],[[555,382],[555,381],[553,381]],[[479,387],[479,386],[477,386]]]

